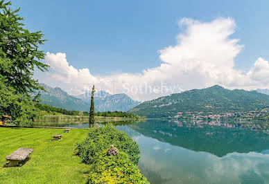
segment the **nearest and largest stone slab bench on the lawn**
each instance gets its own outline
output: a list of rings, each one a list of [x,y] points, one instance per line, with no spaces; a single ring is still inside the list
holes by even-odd
[[[21,147],[6,157],[6,160],[9,163],[6,163],[4,167],[19,166],[19,162],[26,160],[26,158],[28,158],[28,156],[32,153],[33,153],[33,149]]]

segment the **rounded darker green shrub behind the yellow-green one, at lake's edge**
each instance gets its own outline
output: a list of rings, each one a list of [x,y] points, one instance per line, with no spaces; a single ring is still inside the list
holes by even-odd
[[[94,162],[99,151],[107,149],[110,145],[114,145],[119,151],[124,151],[130,160],[138,165],[140,151],[137,142],[123,131],[116,129],[112,124],[89,129],[87,138],[77,145],[78,155],[83,161],[90,164]]]

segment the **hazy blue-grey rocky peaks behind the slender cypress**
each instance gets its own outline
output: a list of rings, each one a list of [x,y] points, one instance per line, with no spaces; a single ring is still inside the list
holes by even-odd
[[[74,111],[89,111],[90,94],[83,94],[72,96],[63,91],[59,87],[51,87],[46,84],[45,91],[40,91],[42,104],[49,104],[53,107],[60,107],[67,110]],[[37,91],[35,92],[37,93]],[[128,95],[110,94],[105,91],[98,91],[94,94],[94,107],[95,111],[129,111],[141,102],[132,100]]]

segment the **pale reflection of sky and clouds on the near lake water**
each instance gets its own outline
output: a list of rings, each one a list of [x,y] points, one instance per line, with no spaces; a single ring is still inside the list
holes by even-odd
[[[250,152],[223,157],[139,138],[139,167],[153,183],[268,183],[268,155]],[[144,142],[147,142],[146,144]]]

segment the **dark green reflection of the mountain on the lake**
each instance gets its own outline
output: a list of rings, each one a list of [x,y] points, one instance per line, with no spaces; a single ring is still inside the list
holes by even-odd
[[[269,135],[241,127],[193,125],[167,120],[147,120],[129,125],[140,134],[193,151],[222,157],[229,153],[261,152],[269,147]]]

